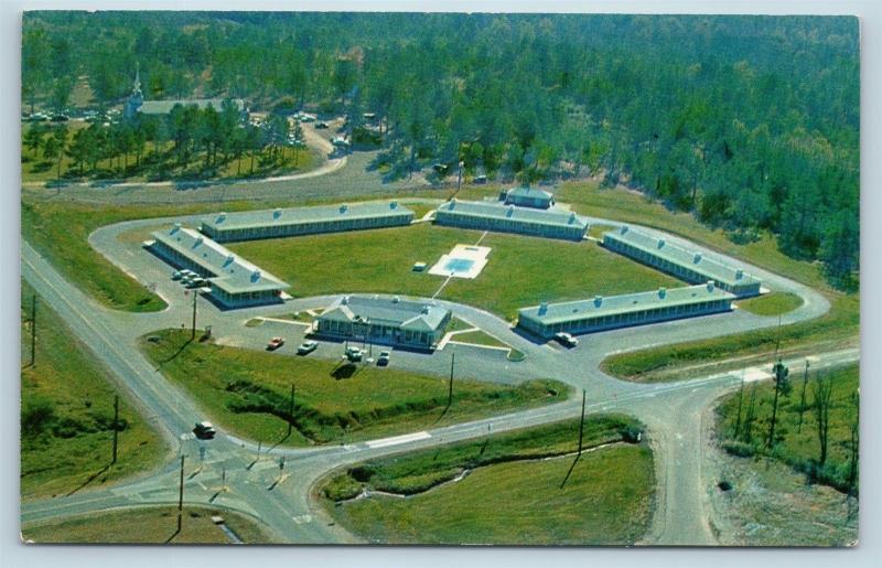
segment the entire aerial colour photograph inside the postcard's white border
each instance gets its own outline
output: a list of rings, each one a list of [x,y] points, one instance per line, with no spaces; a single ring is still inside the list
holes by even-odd
[[[23,546],[859,544],[858,18],[20,18]]]

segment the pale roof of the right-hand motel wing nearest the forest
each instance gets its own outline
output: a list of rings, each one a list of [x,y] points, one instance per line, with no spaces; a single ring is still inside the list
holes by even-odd
[[[687,250],[677,245],[666,243],[663,238],[655,238],[645,233],[634,231],[623,226],[617,231],[609,231],[603,234],[604,239],[611,238],[626,243],[649,255],[664,258],[673,264],[689,268],[709,279],[723,282],[729,286],[744,286],[760,282],[760,279],[747,275],[742,268],[723,264],[719,260],[708,258],[707,255],[698,250]]]

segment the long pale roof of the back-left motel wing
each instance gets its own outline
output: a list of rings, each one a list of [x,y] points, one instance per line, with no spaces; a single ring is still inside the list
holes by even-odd
[[[262,211],[243,211],[239,213],[218,213],[201,221],[202,226],[213,231],[232,231],[269,226],[297,225],[301,223],[319,223],[325,221],[376,218],[401,216],[411,217],[413,211],[404,207],[396,201],[364,202],[319,207],[290,207]]]

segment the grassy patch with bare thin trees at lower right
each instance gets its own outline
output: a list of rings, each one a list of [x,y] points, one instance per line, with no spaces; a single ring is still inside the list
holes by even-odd
[[[810,371],[810,369],[809,369]],[[860,386],[858,365],[825,372],[832,378],[832,405],[829,410],[828,458],[822,471],[814,470],[813,461],[819,459],[818,421],[813,408],[816,375],[809,372],[806,388],[806,406],[802,406],[804,368],[790,369],[792,389],[778,398],[776,442],[766,448],[772,418],[774,384],[771,381],[756,386],[756,401],[750,436],[745,425],[753,385],[744,387],[741,424],[738,421],[739,393],[725,397],[717,409],[717,431],[724,449],[736,456],[762,454],[789,464],[797,471],[807,472],[815,479],[845,490],[847,486],[850,451],[850,428],[857,419],[852,395]],[[803,425],[799,414],[803,409]],[[739,426],[739,436],[735,427]]]

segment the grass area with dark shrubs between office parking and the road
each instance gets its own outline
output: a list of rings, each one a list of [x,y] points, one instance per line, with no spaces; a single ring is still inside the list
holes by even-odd
[[[305,446],[377,438],[560,401],[569,395],[557,381],[508,386],[456,378],[453,404],[445,411],[445,378],[209,342],[184,346],[190,335],[179,330],[151,336],[158,340],[142,343],[148,356],[213,421],[267,442],[284,439],[287,444]],[[286,439],[289,419],[294,432]]]

